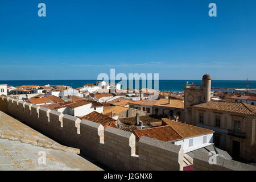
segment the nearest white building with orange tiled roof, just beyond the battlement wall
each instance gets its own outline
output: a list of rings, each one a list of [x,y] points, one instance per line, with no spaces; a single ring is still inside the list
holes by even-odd
[[[162,125],[160,127],[134,130],[134,133],[137,139],[143,135],[179,145],[183,148],[184,154],[213,144],[213,130],[170,119],[162,119]]]

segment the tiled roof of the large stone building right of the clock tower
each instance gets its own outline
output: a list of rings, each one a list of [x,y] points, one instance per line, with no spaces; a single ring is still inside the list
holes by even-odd
[[[256,106],[243,102],[210,101],[207,103],[194,105],[192,107],[226,111],[230,113],[256,115]]]

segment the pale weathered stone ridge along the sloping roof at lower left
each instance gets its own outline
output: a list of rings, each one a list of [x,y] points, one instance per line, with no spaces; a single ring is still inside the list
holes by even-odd
[[[5,131],[0,131],[0,138],[15,140],[15,141],[19,141],[21,143],[32,144],[33,146],[44,147],[44,148],[53,148],[55,150],[62,150],[65,152],[71,152],[73,154],[80,154],[79,148],[67,147],[67,146],[63,146],[61,144],[46,142],[44,140],[29,138],[29,137],[22,136],[22,135],[13,135],[10,133],[5,133]]]

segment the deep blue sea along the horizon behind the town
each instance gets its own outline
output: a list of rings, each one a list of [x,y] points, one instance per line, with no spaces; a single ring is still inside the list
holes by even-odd
[[[88,83],[96,83],[97,80],[0,80],[0,84],[8,84],[11,86],[21,85],[69,85],[72,88],[78,88]],[[184,85],[187,84],[201,84],[201,80],[159,80],[159,90],[161,91],[183,91]],[[115,81],[116,83],[119,80]],[[154,81],[152,81],[152,89],[154,89]],[[246,80],[212,80],[212,88],[246,88]],[[135,85],[135,81],[134,81]],[[256,88],[256,80],[249,80],[249,88]],[[127,87],[129,86],[127,81]],[[140,81],[141,87],[141,81]],[[220,90],[220,89],[218,89]],[[223,89],[226,90],[226,89]]]

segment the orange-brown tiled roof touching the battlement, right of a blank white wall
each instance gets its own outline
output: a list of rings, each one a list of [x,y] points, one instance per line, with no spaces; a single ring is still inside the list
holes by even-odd
[[[96,111],[93,111],[92,113],[89,113],[89,114],[84,115],[83,117],[79,117],[79,118],[93,121],[96,123],[100,123],[102,126],[104,126],[104,129],[107,126],[113,127],[113,123],[116,122],[114,119],[109,118],[104,114],[97,113]]]

